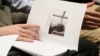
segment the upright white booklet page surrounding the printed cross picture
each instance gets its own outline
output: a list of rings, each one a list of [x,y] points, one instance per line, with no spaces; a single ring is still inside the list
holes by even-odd
[[[41,41],[65,46],[66,49],[77,50],[85,10],[85,4],[55,0],[36,0],[30,12],[28,23],[40,25]],[[60,22],[58,17],[53,17],[54,15],[67,17],[67,20],[64,19],[62,22],[65,27],[64,36],[48,33],[52,22],[54,24]]]

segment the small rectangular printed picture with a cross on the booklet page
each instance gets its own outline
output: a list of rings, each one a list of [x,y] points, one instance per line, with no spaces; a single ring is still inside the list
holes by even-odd
[[[52,11],[49,34],[64,36],[68,13],[63,10]]]

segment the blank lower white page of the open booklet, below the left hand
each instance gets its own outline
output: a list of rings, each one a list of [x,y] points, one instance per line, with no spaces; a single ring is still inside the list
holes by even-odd
[[[50,45],[45,42],[35,40],[33,43],[17,41],[13,46],[37,56],[55,56],[67,51],[66,47]]]

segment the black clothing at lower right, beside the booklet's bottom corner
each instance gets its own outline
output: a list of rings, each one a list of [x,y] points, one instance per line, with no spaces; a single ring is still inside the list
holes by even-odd
[[[97,45],[83,38],[79,40],[78,50],[78,52],[75,52],[73,50],[70,52],[66,52],[63,56],[99,56]]]

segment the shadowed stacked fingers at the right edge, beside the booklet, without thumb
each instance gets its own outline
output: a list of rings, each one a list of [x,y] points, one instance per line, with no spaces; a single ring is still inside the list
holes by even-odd
[[[100,12],[88,8],[84,16],[83,28],[96,29],[98,27],[100,27]]]

